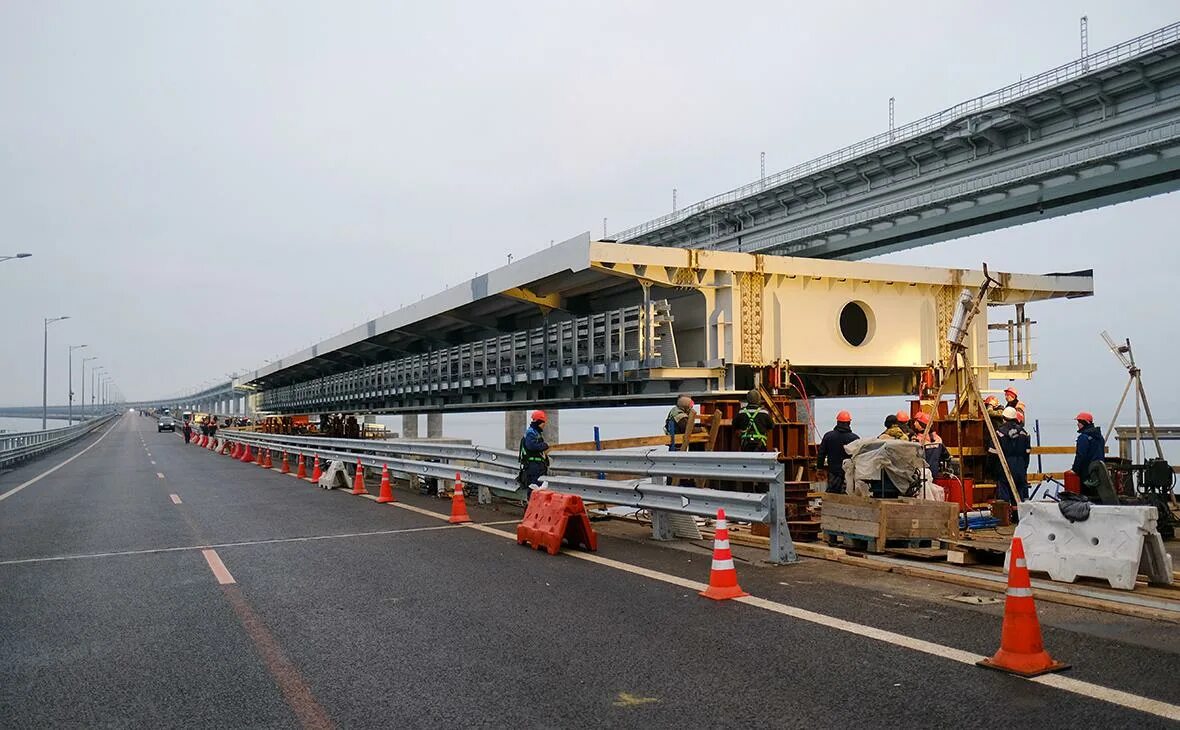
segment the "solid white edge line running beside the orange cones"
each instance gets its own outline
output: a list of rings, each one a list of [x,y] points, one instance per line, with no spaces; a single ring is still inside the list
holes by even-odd
[[[412,507],[407,505],[400,505],[400,502],[392,502],[402,508],[409,508],[413,512],[426,513],[428,511],[420,507]],[[440,514],[438,512],[433,513],[435,518],[440,520],[447,519],[446,514]],[[468,522],[463,525],[468,530],[477,530],[479,532],[485,532],[487,534],[493,534],[500,538],[516,539],[516,535],[503,530],[493,530],[486,525]],[[612,567],[615,570],[624,571],[636,576],[643,576],[644,578],[650,578],[653,580],[658,580],[661,583],[668,583],[671,585],[681,586],[684,588],[690,588],[694,591],[703,591],[708,587],[703,583],[696,580],[689,580],[687,578],[681,578],[680,576],[673,576],[669,573],[663,573],[660,571],[653,571],[650,568],[640,567],[637,565],[631,565],[630,563],[621,563],[618,560],[611,560],[610,558],[603,558],[595,553],[584,553],[575,551],[562,551],[563,555],[569,555],[570,558],[577,558],[578,560],[585,560],[586,563],[596,563],[598,565],[604,565],[607,567]],[[959,662],[962,664],[975,665],[979,659],[984,659],[981,655],[971,653],[969,651],[963,651],[962,649],[955,649],[953,646],[944,646],[942,644],[936,644],[933,642],[926,642],[924,639],[918,639],[911,636],[905,636],[904,633],[897,633],[893,631],[886,631],[884,629],[876,629],[873,626],[865,626],[864,624],[857,624],[853,622],[847,622],[841,618],[835,618],[834,616],[827,616],[825,613],[815,613],[814,611],[807,611],[806,609],[798,609],[795,606],[788,606],[787,604],[780,604],[774,600],[767,600],[765,598],[758,598],[755,596],[747,596],[745,598],[735,598],[734,600],[743,603],[749,606],[762,609],[765,611],[772,611],[774,613],[781,613],[782,616],[789,616],[800,620],[805,620],[812,624],[819,624],[821,626],[827,626],[828,629],[835,629],[837,631],[844,631],[846,633],[852,633],[854,636],[861,636],[865,638],[874,639],[878,642],[884,642],[886,644],[892,644],[894,646],[900,646],[903,649],[909,649],[912,651],[919,651],[935,657],[940,657],[943,659],[950,659],[951,662]],[[1014,678],[1023,679],[1023,677]],[[1044,686],[1050,686],[1066,692],[1073,692],[1074,695],[1081,695],[1083,697],[1093,697],[1095,699],[1101,699],[1110,704],[1120,705],[1129,710],[1138,710],[1140,712],[1147,712],[1148,715],[1155,715],[1158,717],[1163,717],[1167,719],[1180,721],[1180,705],[1174,705],[1159,699],[1152,699],[1149,697],[1141,697],[1139,695],[1132,695],[1130,692],[1123,692],[1122,690],[1114,690],[1110,688],[1102,686],[1100,684],[1092,684],[1089,682],[1083,682],[1081,679],[1074,679],[1071,677],[1062,677],[1061,675],[1042,675],[1040,677],[1032,677],[1029,682],[1036,682]]]

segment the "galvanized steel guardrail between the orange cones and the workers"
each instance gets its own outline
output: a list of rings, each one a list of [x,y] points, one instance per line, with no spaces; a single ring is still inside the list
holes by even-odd
[[[509,449],[422,441],[320,439],[240,430],[223,430],[221,436],[255,448],[282,448],[304,458],[319,455],[341,461],[359,459],[365,466],[387,466],[398,474],[450,480],[459,473],[465,484],[487,487],[514,499],[526,499],[524,489],[517,484],[517,454]],[[503,471],[466,466],[472,462]],[[553,472],[628,474],[638,479],[585,479]],[[749,494],[699,489],[654,481],[669,476],[765,484],[767,492]],[[638,451],[553,452],[550,454],[550,474],[543,484],[589,501],[649,509],[653,532],[660,539],[671,537],[667,521],[670,513],[715,517],[717,509],[722,508],[732,519],[768,525],[771,561],[794,563],[798,557],[787,528],[785,479],[786,469],[778,455],[772,453],[669,452],[651,447]]]

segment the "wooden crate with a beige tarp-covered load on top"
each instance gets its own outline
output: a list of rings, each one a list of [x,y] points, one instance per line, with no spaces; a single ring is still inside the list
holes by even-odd
[[[825,494],[820,530],[828,542],[837,537],[864,542],[873,553],[885,552],[890,540],[911,547],[939,538],[958,537],[958,505],[922,499],[870,499]]]

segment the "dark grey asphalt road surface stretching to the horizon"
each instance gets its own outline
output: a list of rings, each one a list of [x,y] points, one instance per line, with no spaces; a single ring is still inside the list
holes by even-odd
[[[1176,724],[1160,716],[1180,703],[1176,645],[1149,640],[1171,627],[1042,606],[1048,647],[1087,683],[1067,691],[700,598],[676,585],[707,580],[699,550],[607,535],[617,564],[549,557],[498,532],[509,512],[450,526],[405,507],[445,501],[327,492],[138,416],[97,438],[0,475],[2,495],[88,448],[0,499],[4,728]],[[813,560],[739,572],[808,616],[998,643],[997,610],[945,586]]]

